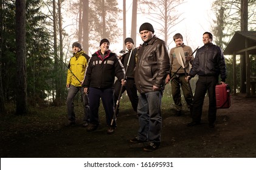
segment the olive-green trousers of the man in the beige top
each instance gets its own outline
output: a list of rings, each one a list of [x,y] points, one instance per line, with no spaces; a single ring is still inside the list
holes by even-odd
[[[182,109],[181,89],[187,106],[189,108],[192,107],[193,94],[190,84],[185,80],[185,74],[176,74],[171,80],[171,94],[173,95],[173,101],[175,102],[176,110]]]

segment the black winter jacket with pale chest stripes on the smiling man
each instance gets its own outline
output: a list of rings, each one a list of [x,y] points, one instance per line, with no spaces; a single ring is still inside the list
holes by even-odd
[[[95,52],[89,60],[83,86],[95,88],[113,88],[115,76],[122,80],[125,75],[123,64],[116,53],[108,50],[103,59],[100,50]]]

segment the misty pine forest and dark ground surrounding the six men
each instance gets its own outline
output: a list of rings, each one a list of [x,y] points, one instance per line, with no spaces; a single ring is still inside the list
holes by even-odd
[[[223,49],[236,31],[255,31],[255,0],[212,1],[210,7],[202,6],[204,0],[193,2],[198,11],[211,11],[209,17],[202,13],[202,18],[208,18],[210,23],[211,29],[206,31],[213,33],[213,42]],[[103,135],[103,127],[95,134],[86,135],[78,126],[74,129],[63,127],[63,121],[67,120],[67,69],[62,61],[66,65],[69,63],[72,42],[80,41],[83,49],[91,54],[99,48],[100,39],[109,38],[111,50],[119,53],[121,47],[116,44],[123,45],[127,36],[136,39],[137,45],[141,42],[138,29],[144,21],[143,15],[147,18],[145,21],[154,23],[156,35],[171,48],[174,46],[172,36],[187,17],[182,10],[187,1],[3,0],[0,3],[1,157],[255,157],[255,137],[251,136],[255,134],[255,100],[251,98],[241,100],[234,96],[232,108],[218,114],[215,131],[201,126],[194,131],[184,126],[190,121],[187,115],[181,118],[170,116],[173,102],[170,86],[166,86],[162,104],[164,142],[162,148],[151,155],[126,141],[135,135],[138,123],[125,95],[121,101],[124,109],[118,119],[120,128],[112,136],[114,140]],[[128,9],[132,9],[130,16],[124,12]],[[128,21],[127,18],[132,19]],[[200,22],[198,19],[192,19],[192,23]],[[192,44],[195,27],[188,24],[188,28],[187,32],[181,32],[185,44],[193,49],[202,46],[201,36],[197,38],[199,42]],[[237,60],[236,88],[244,94],[241,75],[246,66],[240,64],[245,64],[241,61],[243,57]],[[255,55],[250,55],[250,60],[251,72],[255,73]],[[232,86],[232,58],[226,56],[226,63],[227,83]],[[192,87],[195,88],[195,80],[192,80]],[[81,118],[79,95],[75,103]],[[206,110],[204,107],[204,112]],[[100,109],[102,119],[103,112]],[[181,129],[177,131],[177,128]],[[95,151],[92,141],[97,143],[99,150]]]

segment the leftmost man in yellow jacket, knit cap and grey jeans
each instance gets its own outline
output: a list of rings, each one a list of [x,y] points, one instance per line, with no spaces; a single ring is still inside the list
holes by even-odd
[[[67,115],[69,122],[67,123],[67,126],[75,125],[74,98],[78,91],[80,91],[84,106],[84,118],[82,126],[86,127],[88,126],[89,122],[89,98],[88,95],[85,94],[84,87],[81,86],[81,83],[85,77],[85,70],[89,62],[89,56],[83,51],[79,42],[74,42],[72,44],[72,50],[74,53],[69,61],[66,83],[67,88],[69,88],[67,93]]]

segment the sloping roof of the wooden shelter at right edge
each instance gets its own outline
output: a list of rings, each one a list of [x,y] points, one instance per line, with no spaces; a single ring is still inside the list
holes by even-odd
[[[247,39],[247,48],[246,48]],[[253,32],[235,32],[235,35],[227,44],[224,50],[224,55],[236,55],[244,54],[245,51],[249,52],[249,55],[256,54],[256,31]]]

